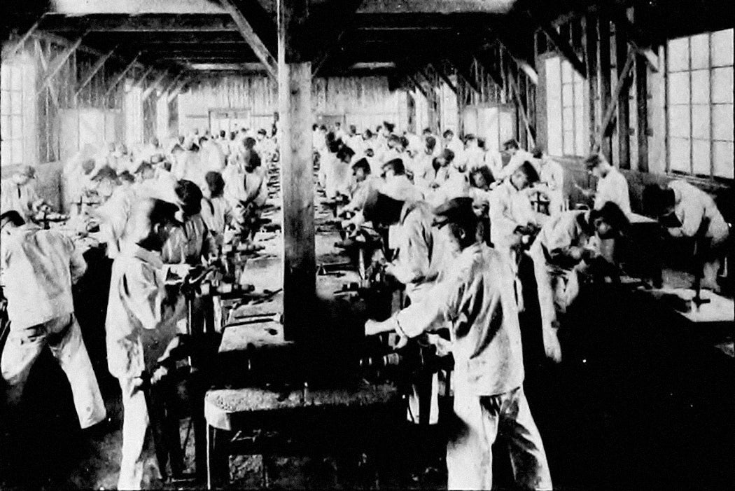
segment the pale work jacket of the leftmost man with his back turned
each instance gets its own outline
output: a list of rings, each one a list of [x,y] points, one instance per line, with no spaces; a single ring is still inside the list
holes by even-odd
[[[12,329],[74,312],[71,285],[87,263],[70,238],[26,223],[0,238],[0,272]]]

